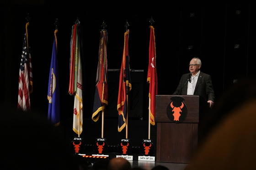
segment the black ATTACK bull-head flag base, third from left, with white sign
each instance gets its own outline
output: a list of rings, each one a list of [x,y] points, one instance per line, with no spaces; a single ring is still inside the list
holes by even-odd
[[[117,158],[122,157],[126,160],[133,160],[133,156],[129,155],[132,152],[130,139],[121,139],[120,143],[118,144],[118,151],[121,155],[117,155]]]

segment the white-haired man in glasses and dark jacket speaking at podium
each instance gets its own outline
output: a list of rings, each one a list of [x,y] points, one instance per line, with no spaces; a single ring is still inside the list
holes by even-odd
[[[214,104],[214,90],[210,75],[200,71],[202,62],[198,57],[189,63],[190,73],[181,76],[180,83],[172,95],[198,95],[205,99],[209,108]]]

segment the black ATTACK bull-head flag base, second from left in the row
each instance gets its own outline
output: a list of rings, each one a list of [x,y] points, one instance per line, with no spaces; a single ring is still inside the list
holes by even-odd
[[[107,140],[105,138],[97,138],[96,142],[93,146],[93,150],[96,153],[96,155],[92,155],[92,156],[107,156],[108,157],[108,155],[105,155],[108,150]]]

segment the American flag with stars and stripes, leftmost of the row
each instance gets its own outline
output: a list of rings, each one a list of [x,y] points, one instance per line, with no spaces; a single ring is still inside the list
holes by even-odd
[[[18,109],[26,112],[30,111],[30,94],[33,91],[32,86],[32,62],[31,54],[28,46],[28,29],[26,24],[26,32],[23,41],[23,48],[21,53],[21,65],[19,73],[19,95],[18,95]]]

